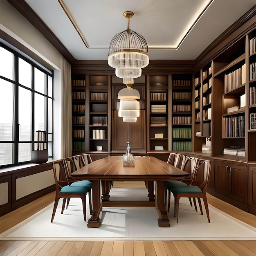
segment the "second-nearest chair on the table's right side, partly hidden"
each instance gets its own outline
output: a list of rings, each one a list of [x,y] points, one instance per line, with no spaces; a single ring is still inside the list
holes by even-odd
[[[172,186],[186,186],[186,185],[191,184],[192,174],[195,171],[195,169],[197,168],[198,163],[199,163],[199,158],[198,157],[186,156],[184,166],[182,166],[182,171],[185,171],[185,172],[189,173],[190,175],[186,176],[181,181],[179,181],[179,180],[169,180],[169,181],[164,182],[164,202],[165,202],[165,205],[166,205],[166,201],[167,201],[167,190],[168,190],[168,208],[167,208],[168,212],[170,211],[170,201],[171,201],[170,188]],[[195,198],[193,198],[193,202],[194,202],[194,205],[195,205],[195,211],[197,211],[197,205],[196,205],[196,202],[195,202]],[[189,203],[192,207],[191,198],[189,198]]]

